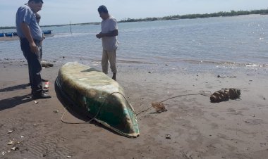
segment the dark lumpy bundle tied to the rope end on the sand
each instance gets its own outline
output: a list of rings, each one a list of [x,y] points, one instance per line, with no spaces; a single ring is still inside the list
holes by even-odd
[[[221,89],[219,91],[215,91],[212,96],[210,96],[210,101],[212,103],[217,103],[221,101],[228,101],[229,98],[236,99],[239,98],[241,94],[240,89]]]

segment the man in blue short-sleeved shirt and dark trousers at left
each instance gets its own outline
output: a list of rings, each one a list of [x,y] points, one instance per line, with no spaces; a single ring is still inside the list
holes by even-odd
[[[20,37],[21,50],[28,61],[33,98],[51,98],[42,89],[42,65],[39,55],[42,30],[35,17],[35,13],[41,10],[42,5],[42,0],[29,0],[28,4],[18,8],[16,13],[16,29]]]

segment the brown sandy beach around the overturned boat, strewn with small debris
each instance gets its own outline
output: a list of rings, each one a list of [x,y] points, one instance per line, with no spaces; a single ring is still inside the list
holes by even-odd
[[[155,70],[153,66],[142,69],[118,63],[118,83],[136,113],[150,108],[152,102],[185,95],[165,101],[164,113],[155,113],[154,108],[140,113],[140,136],[129,139],[95,122],[80,125],[61,122],[65,108],[54,90],[59,68],[60,65],[55,65],[42,70],[42,77],[50,81],[52,98],[32,100],[27,85],[27,63],[0,61],[0,158],[268,156],[267,76],[233,72],[217,77],[172,71],[169,65]],[[221,88],[240,89],[241,96],[211,103],[209,94]],[[63,119],[89,120],[70,112]],[[166,139],[166,134],[171,138]],[[11,150],[13,147],[15,151]]]

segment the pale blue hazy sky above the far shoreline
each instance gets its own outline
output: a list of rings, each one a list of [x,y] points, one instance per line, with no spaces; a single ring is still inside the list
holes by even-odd
[[[105,5],[116,20],[219,11],[267,9],[268,0],[43,0],[40,25],[101,22]],[[0,26],[15,26],[16,11],[28,0],[0,0]]]

